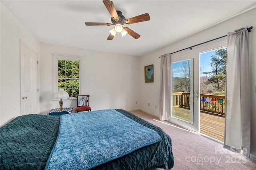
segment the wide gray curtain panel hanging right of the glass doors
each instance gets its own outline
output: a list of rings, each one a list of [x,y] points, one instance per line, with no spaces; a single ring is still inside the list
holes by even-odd
[[[243,151],[244,156],[250,158],[249,35],[246,28],[228,33],[224,148]]]

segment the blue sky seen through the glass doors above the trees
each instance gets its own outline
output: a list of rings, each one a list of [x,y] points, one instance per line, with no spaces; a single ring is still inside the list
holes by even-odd
[[[200,54],[200,72],[210,72],[211,66],[209,64],[211,60],[211,56],[215,54],[215,51],[208,51],[206,53]],[[182,61],[177,63],[172,63],[172,74],[174,77],[180,76],[180,72],[182,70]],[[204,76],[204,74],[200,74],[200,76]]]

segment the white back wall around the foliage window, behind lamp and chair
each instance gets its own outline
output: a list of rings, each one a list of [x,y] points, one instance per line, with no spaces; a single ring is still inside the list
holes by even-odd
[[[58,101],[52,101],[52,53],[83,58],[80,94],[90,94],[92,110],[140,108],[137,74],[140,57],[46,43],[41,44],[40,51],[40,113],[46,114],[48,110],[59,107]],[[76,100],[64,100],[63,107],[76,107]]]

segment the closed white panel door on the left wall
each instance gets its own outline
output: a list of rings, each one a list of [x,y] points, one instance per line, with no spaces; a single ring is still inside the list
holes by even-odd
[[[20,41],[21,115],[38,113],[38,55]]]

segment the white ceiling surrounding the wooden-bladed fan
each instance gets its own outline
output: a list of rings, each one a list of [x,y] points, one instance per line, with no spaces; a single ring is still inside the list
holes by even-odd
[[[126,18],[148,13],[150,21],[129,27],[141,37],[107,40],[111,26],[86,26],[109,22],[102,0],[1,0],[14,16],[42,43],[142,56],[196,33],[244,10],[256,0],[113,0]],[[250,25],[248,25],[250,26]]]

